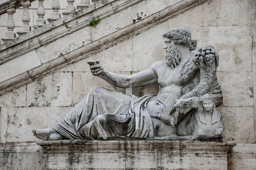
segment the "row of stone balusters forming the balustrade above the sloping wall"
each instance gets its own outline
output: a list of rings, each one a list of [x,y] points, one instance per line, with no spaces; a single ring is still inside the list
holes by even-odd
[[[36,22],[34,23],[34,25],[29,25],[31,18],[30,18],[28,9],[29,7],[31,7],[31,2],[33,1],[38,2],[38,8],[37,8],[38,19],[36,19]],[[62,3],[63,1],[64,0],[61,0]],[[75,0],[66,0],[66,1],[67,1],[66,10],[62,12],[64,16],[70,13],[73,13],[76,10],[74,6]],[[77,5],[77,9],[92,10],[92,9],[95,9],[96,3],[101,1],[102,0],[80,0],[80,4]],[[3,15],[4,13],[8,14],[8,19],[6,23],[6,28],[8,31],[5,32],[5,37],[1,37],[1,40],[3,42],[12,40],[17,36],[16,33],[14,32],[15,22],[13,20],[13,14],[15,13],[16,8],[21,6],[23,7],[23,14],[20,20],[23,22],[23,25],[21,25],[20,30],[16,32],[18,36],[31,31],[31,27],[32,29],[36,29],[46,24],[44,0],[8,0],[8,1],[5,1],[4,3],[0,3],[0,15]],[[59,9],[60,9],[59,0],[52,0],[51,8],[53,11],[50,14],[50,16],[48,16],[49,18],[47,18],[49,23],[61,18],[61,14],[59,13]],[[1,22],[1,16],[0,16],[0,22]]]

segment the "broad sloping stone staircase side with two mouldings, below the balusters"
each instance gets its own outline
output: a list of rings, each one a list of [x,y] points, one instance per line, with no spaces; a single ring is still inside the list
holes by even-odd
[[[206,0],[109,0],[0,45],[0,95],[165,22]],[[101,22],[95,27],[93,18]]]

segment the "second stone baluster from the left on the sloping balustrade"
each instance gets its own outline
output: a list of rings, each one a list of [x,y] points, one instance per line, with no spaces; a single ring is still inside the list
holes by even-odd
[[[22,3],[21,5],[23,7],[23,14],[22,14],[22,18],[21,18],[21,20],[23,22],[23,25],[20,27],[20,31],[17,31],[17,34],[19,36],[31,31],[31,28],[28,25],[29,22],[30,22],[30,16],[29,16],[29,13],[28,13],[28,8],[31,6],[31,2],[28,0],[24,3]]]

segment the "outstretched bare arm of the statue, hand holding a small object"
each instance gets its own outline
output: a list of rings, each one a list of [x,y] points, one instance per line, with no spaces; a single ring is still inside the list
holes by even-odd
[[[137,72],[133,75],[119,75],[103,69],[99,61],[88,60],[93,75],[99,76],[116,87],[141,87],[157,82],[158,77],[152,68]]]

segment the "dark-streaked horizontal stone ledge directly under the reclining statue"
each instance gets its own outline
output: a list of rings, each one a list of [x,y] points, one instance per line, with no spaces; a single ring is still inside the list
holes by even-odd
[[[165,150],[166,152],[204,151],[229,153],[236,142],[202,142],[172,140],[57,140],[36,142],[47,153],[104,152],[107,150]]]

